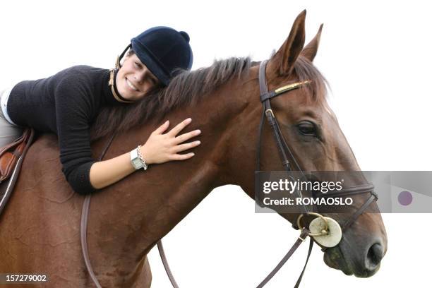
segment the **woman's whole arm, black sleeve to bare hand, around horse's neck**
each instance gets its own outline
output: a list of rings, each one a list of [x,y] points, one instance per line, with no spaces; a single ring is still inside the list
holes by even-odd
[[[86,78],[86,75],[69,73],[67,77],[61,79],[54,91],[61,171],[64,172],[73,191],[83,195],[113,184],[133,172],[128,153],[103,162],[95,162],[92,158],[89,117],[94,114],[97,99],[92,97],[95,92],[87,85],[91,81]],[[169,126],[166,122],[154,131],[140,150],[145,161],[149,164],[163,163],[192,157],[191,153],[176,154],[198,145],[198,143],[179,145],[198,135],[198,133],[186,133],[176,137],[188,123],[190,121],[183,121],[172,131],[163,134]]]

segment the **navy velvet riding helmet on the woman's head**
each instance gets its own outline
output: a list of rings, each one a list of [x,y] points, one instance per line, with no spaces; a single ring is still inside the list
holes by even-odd
[[[132,47],[141,62],[156,76],[163,85],[175,76],[178,69],[191,70],[193,54],[189,45],[189,35],[169,27],[158,26],[145,30],[131,39]],[[117,61],[119,63],[119,61]]]

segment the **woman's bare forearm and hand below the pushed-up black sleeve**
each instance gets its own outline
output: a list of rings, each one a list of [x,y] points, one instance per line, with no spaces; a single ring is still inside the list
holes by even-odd
[[[172,160],[186,160],[193,157],[193,153],[184,155],[178,154],[200,145],[200,141],[183,143],[184,141],[198,136],[199,130],[176,136],[183,128],[191,123],[191,119],[186,119],[172,128],[168,133],[164,133],[169,127],[169,121],[157,128],[150,134],[145,144],[140,148],[146,164],[164,163]],[[90,183],[96,189],[104,188],[123,179],[136,169],[131,164],[130,152],[114,157],[109,160],[95,162],[90,168]],[[151,167],[150,167],[151,169]]]

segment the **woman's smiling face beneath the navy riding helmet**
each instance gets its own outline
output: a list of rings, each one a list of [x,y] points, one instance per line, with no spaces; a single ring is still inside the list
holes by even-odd
[[[136,54],[126,56],[123,66],[116,74],[117,90],[122,97],[132,101],[143,98],[158,81]]]

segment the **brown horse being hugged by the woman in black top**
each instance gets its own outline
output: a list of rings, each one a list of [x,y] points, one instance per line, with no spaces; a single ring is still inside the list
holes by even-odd
[[[306,11],[296,18],[289,37],[271,57],[266,76],[270,90],[296,81],[312,83],[272,100],[275,116],[302,169],[359,170],[325,100],[325,80],[312,64],[321,28],[304,47],[305,17]],[[92,196],[88,248],[102,287],[150,287],[148,252],[213,188],[235,184],[254,197],[259,94],[258,66],[249,59],[227,59],[181,73],[168,88],[133,106],[101,112],[94,130],[99,138],[92,144],[95,158],[109,138],[107,125],[120,131],[105,158],[135,148],[162,118],[174,124],[191,115],[188,129],[202,131],[202,144],[191,160],[152,165]],[[110,121],[109,115],[115,114],[126,124]],[[268,126],[261,147],[261,168],[281,170]],[[91,287],[80,248],[83,199],[61,174],[56,137],[38,138],[0,218],[0,271],[47,274],[46,287]],[[378,209],[376,203],[371,208]],[[297,216],[282,215],[290,222]],[[343,221],[349,216],[333,217]],[[386,249],[380,214],[365,213],[338,246],[325,251],[324,259],[346,274],[368,277],[378,270]]]

